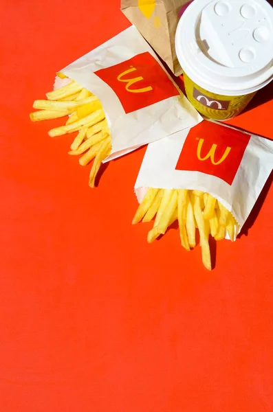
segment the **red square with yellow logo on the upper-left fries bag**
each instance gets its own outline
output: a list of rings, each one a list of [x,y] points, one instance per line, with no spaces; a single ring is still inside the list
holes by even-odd
[[[149,52],[95,71],[118,96],[125,113],[131,113],[179,95],[160,64]]]

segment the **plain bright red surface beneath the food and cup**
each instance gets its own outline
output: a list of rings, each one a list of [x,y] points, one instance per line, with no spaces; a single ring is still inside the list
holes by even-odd
[[[208,273],[177,229],[147,244],[131,226],[145,148],[91,190],[71,137],[47,135],[58,121],[28,117],[55,71],[129,25],[119,6],[1,2],[1,412],[270,411],[270,182]],[[270,97],[232,123],[272,137]]]

